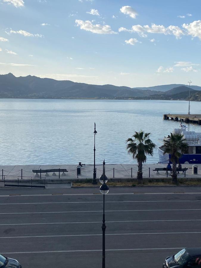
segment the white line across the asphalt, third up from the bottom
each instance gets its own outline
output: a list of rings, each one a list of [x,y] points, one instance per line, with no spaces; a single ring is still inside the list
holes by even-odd
[[[190,221],[201,221],[201,219],[188,219],[188,220],[142,220],[142,221],[107,221],[106,223],[116,222],[190,222]],[[80,223],[102,223],[100,222],[42,222],[42,223],[5,223],[4,225],[40,225],[40,224],[80,224]]]

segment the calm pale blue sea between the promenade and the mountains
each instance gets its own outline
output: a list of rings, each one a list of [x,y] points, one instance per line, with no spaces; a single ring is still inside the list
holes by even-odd
[[[191,113],[200,113],[191,102]],[[133,163],[126,139],[134,131],[151,139],[169,134],[180,123],[163,120],[164,113],[187,113],[186,101],[0,99],[1,165],[92,164],[94,121],[96,163]],[[201,132],[201,126],[188,124]],[[147,163],[157,163],[157,149]]]

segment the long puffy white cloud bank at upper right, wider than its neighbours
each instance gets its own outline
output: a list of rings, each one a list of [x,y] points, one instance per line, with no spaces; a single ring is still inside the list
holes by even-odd
[[[152,23],[151,27],[149,25],[133,25],[132,29],[126,29],[124,27],[119,28],[119,32],[137,32],[141,37],[147,37],[146,33],[159,33],[164,35],[173,34],[177,39],[181,38],[181,35],[184,35],[182,29],[178,26],[170,25],[169,27],[165,27],[163,25],[157,25]]]

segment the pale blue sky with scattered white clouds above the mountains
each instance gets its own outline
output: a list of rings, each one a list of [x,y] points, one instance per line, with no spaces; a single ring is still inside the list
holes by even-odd
[[[200,10],[200,0],[0,0],[0,74],[201,86]]]

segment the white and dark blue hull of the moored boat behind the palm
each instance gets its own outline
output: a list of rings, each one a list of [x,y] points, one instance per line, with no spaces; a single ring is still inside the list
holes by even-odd
[[[159,156],[159,162],[163,162],[163,164],[166,163],[172,163],[170,161],[171,154],[165,154],[163,155],[163,151],[158,148],[158,156]],[[183,154],[179,158],[180,164],[201,164],[201,154]]]

